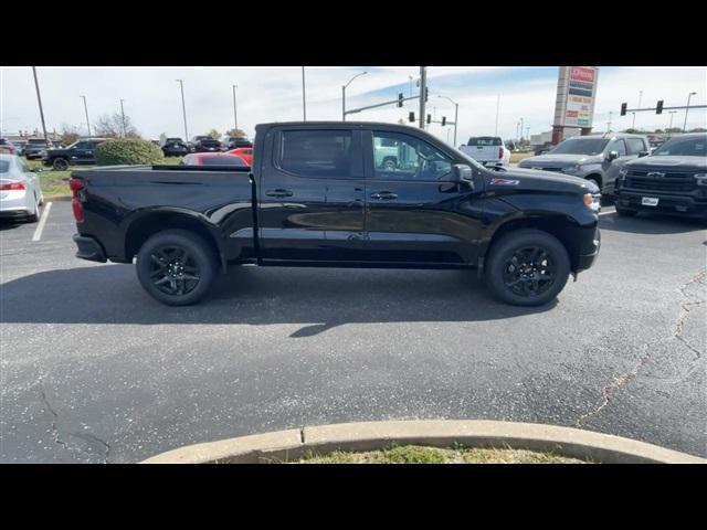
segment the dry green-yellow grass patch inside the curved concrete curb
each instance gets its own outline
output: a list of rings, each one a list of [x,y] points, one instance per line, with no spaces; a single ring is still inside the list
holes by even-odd
[[[553,453],[525,449],[453,449],[418,445],[394,446],[360,453],[337,451],[327,455],[308,453],[295,464],[585,464]]]

